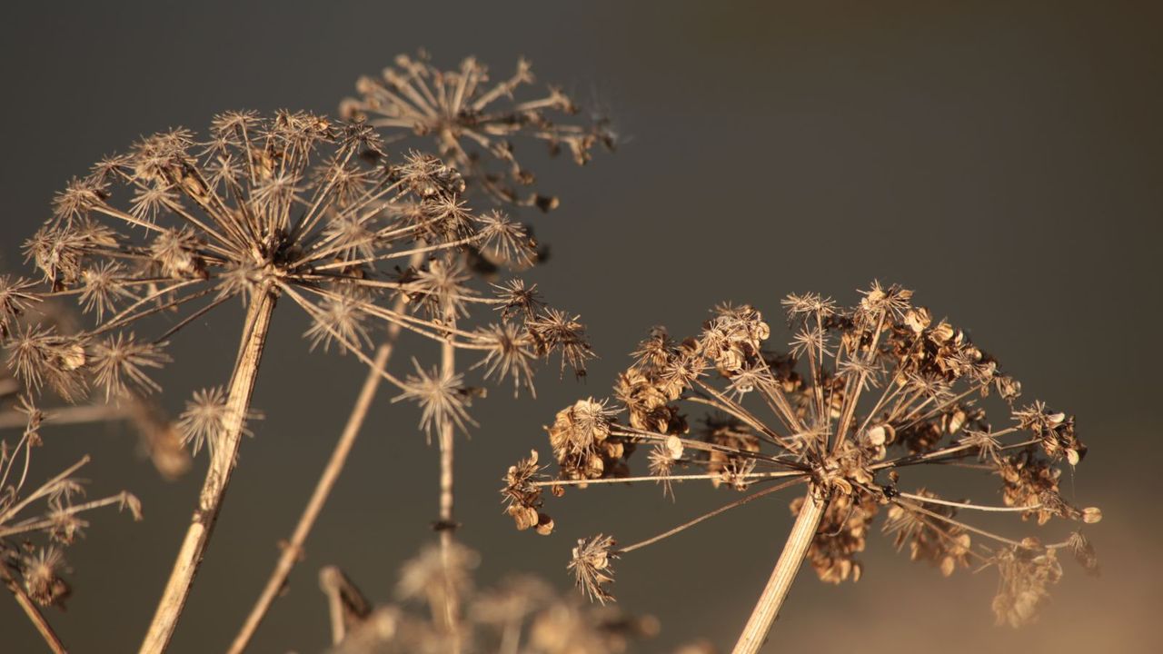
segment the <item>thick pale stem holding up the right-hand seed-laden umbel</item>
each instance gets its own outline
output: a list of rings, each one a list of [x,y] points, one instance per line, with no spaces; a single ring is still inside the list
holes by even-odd
[[[743,633],[735,644],[734,654],[755,654],[768,639],[771,624],[776,621],[776,616],[787,598],[787,591],[791,590],[792,582],[795,581],[795,575],[804,563],[826,507],[826,499],[818,497],[813,490],[804,497],[804,506],[800,507],[792,532],[787,535],[787,542],[779,554],[776,568],[771,570],[768,585],[763,589],[751,617],[747,620],[747,626],[743,627]]]

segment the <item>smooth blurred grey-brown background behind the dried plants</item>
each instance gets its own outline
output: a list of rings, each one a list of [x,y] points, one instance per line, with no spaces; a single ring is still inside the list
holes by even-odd
[[[1026,396],[1076,413],[1090,455],[1064,479],[1100,505],[1087,531],[1100,578],[1065,562],[1040,624],[993,626],[996,575],[942,578],[870,538],[864,578],[830,587],[805,569],[768,652],[1154,652],[1163,609],[1156,417],[1163,357],[1163,10],[1151,2],[20,2],[0,40],[0,269],[55,191],[140,135],[202,131],[230,108],[334,113],[359,74],[426,48],[476,55],[500,76],[520,55],[615,120],[614,155],[576,169],[522,161],[562,206],[526,214],[552,246],[526,275],[588,324],[588,381],[545,367],[537,399],[497,389],[458,446],[459,535],[478,583],[534,573],[565,588],[575,540],[652,535],[734,498],[686,484],[593,488],[551,502],[557,531],[518,533],[501,513],[505,469],[578,397],[606,396],[652,325],[693,334],[715,303],[750,303],[780,325],[779,299],[819,291],[851,303],[899,282],[935,317],[970,329]],[[876,7],[873,8],[875,5]],[[290,306],[290,305],[288,305]],[[185,329],[160,376],[177,413],[226,383],[237,307]],[[174,653],[221,651],[265,582],[347,418],[364,371],[308,354],[297,310],[279,311],[255,406],[266,418],[240,469]],[[772,342],[786,340],[776,330]],[[433,360],[406,341],[395,358]],[[388,600],[400,563],[430,540],[437,453],[418,411],[381,394],[343,479],[259,630],[255,652],[319,652],[328,640],[321,566]],[[123,426],[47,427],[34,476],[81,454],[94,497],[122,488],[145,521],[94,514],[69,550],[74,596],[50,611],[77,652],[136,648],[185,531],[206,458],[165,482]],[[1122,449],[1119,449],[1122,448]],[[34,477],[35,478],[35,477]],[[989,479],[987,479],[989,482]],[[993,489],[994,482],[985,488]],[[989,492],[993,492],[992,490]],[[615,591],[662,621],[644,651],[706,638],[729,651],[791,525],[777,496],[627,556]],[[1012,524],[1012,533],[1035,529]],[[43,647],[0,597],[6,652]],[[986,649],[987,648],[987,649]]]

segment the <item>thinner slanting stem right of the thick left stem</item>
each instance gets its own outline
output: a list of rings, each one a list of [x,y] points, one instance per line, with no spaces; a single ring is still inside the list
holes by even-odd
[[[404,296],[400,296],[395,300],[393,311],[400,312],[402,308]],[[340,474],[343,472],[343,465],[348,461],[348,455],[351,454],[351,447],[355,445],[356,438],[363,428],[364,420],[368,418],[368,410],[371,407],[371,403],[376,398],[376,391],[379,390],[380,381],[384,378],[380,375],[380,370],[387,368],[387,362],[392,358],[392,349],[395,347],[395,340],[399,335],[400,325],[393,322],[387,328],[387,336],[384,339],[384,342],[376,350],[373,363],[368,369],[368,376],[364,378],[363,388],[359,390],[359,397],[351,408],[348,424],[343,427],[343,433],[340,434],[338,442],[335,443],[331,458],[327,462],[327,467],[323,468],[323,474],[319,478],[319,483],[315,484],[315,491],[311,495],[302,516],[299,517],[299,524],[295,525],[294,533],[291,534],[291,540],[283,548],[283,554],[279,555],[279,560],[274,564],[274,571],[271,573],[270,580],[266,581],[266,587],[263,588],[262,595],[258,596],[258,602],[250,610],[247,621],[242,625],[242,630],[230,645],[230,649],[228,649],[229,654],[240,654],[247,649],[247,646],[250,645],[250,639],[254,638],[255,632],[258,630],[258,625],[266,617],[271,604],[274,603],[274,599],[286,584],[291,570],[302,557],[302,546],[307,541],[307,534],[315,526],[315,520],[323,510],[327,497],[331,493],[331,489],[335,488],[335,482],[338,481]]]

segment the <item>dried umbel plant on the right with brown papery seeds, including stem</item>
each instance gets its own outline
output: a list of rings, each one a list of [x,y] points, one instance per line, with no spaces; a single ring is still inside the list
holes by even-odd
[[[934,322],[899,286],[873,283],[848,310],[816,294],[789,296],[784,306],[794,330],[789,354],[765,349],[770,328],[750,306],[718,307],[697,337],[682,342],[655,328],[619,376],[616,404],[579,400],[547,427],[556,478],[544,478],[536,453],[509,469],[502,495],[518,528],[551,524],[542,506],[547,486],[559,496],[566,486],[658,482],[672,492],[671,484],[698,479],[750,491],[638,543],[621,546],[608,535],[579,541],[570,568],[583,590],[605,602],[615,559],[730,507],[806,485],[791,504],[795,524],[736,652],[762,645],[805,559],[825,582],[858,580],[856,555],[882,507],[883,531],[913,560],[946,576],[971,563],[996,568],[999,623],[1035,618],[1061,577],[1058,550],[1097,569],[1080,532],[1043,543],[959,518],[978,511],[1018,513],[1040,526],[1051,518],[1097,523],[1098,509],[1072,505],[1058,488],[1061,467],[1073,468],[1086,453],[1072,415],[1041,401],[1020,404],[1021,385],[997,360],[963,330]],[[1008,424],[991,425],[987,405]],[[683,406],[709,411],[694,434]],[[645,476],[632,476],[628,467],[638,446],[650,448]],[[901,476],[918,465],[993,475],[1000,504],[906,491]],[[676,474],[679,468],[692,471]]]

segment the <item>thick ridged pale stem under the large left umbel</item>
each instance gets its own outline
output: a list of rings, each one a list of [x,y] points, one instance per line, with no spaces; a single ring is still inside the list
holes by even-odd
[[[230,390],[227,396],[226,419],[217,442],[211,448],[211,464],[206,470],[206,481],[198,496],[198,507],[194,510],[186,531],[186,538],[178,550],[170,581],[165,585],[157,612],[142,642],[141,654],[160,654],[173,638],[178,618],[190,597],[194,575],[201,564],[206,547],[209,543],[214,523],[217,520],[226,489],[230,482],[235,458],[238,454],[238,442],[245,427],[247,414],[250,411],[250,399],[255,390],[258,364],[266,346],[266,334],[270,329],[271,313],[274,311],[274,294],[264,286],[250,300],[247,310],[247,322],[243,327],[242,343],[238,346],[238,357],[235,361],[234,374],[230,377]]]

